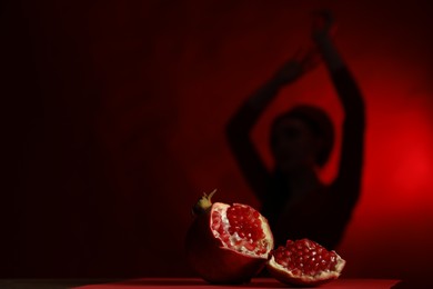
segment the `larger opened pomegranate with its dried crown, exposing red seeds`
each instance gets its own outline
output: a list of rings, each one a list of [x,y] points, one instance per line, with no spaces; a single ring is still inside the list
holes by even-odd
[[[268,220],[250,206],[211,202],[215,191],[193,207],[187,235],[191,267],[211,283],[244,283],[256,275],[273,249]]]

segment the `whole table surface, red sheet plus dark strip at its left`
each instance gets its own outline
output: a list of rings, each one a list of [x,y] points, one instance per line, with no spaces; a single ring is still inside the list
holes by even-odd
[[[338,279],[330,283],[322,285],[320,288],[333,289],[333,288],[351,288],[351,289],[364,289],[364,288],[392,288],[399,283],[399,280],[394,279]],[[129,279],[129,280],[107,280],[107,279],[16,279],[16,280],[0,280],[0,288],[11,289],[211,289],[211,288],[284,288],[283,283],[272,278],[256,278],[250,283],[240,286],[218,286],[204,282],[201,279],[195,278],[142,278],[142,279]]]

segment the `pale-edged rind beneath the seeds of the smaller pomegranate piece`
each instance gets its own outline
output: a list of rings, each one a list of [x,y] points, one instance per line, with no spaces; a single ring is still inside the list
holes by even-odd
[[[335,252],[335,251],[334,251]],[[315,287],[323,283],[328,283],[332,280],[335,280],[340,277],[341,272],[344,269],[345,260],[342,259],[336,252],[336,266],[334,270],[321,271],[319,275],[309,276],[309,275],[293,275],[292,271],[279,265],[274,258],[271,256],[266,262],[268,271],[282,283],[301,286],[301,287]]]

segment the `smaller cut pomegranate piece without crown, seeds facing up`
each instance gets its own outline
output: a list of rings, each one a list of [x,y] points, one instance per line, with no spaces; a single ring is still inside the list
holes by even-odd
[[[340,277],[345,261],[309,239],[289,240],[271,252],[266,263],[270,273],[292,286],[319,286]]]

